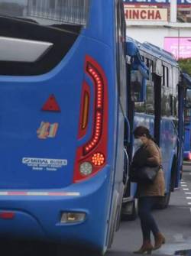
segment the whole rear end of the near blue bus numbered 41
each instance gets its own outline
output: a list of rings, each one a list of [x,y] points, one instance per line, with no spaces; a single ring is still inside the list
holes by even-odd
[[[3,237],[105,247],[111,60],[87,36],[91,6],[0,3]]]

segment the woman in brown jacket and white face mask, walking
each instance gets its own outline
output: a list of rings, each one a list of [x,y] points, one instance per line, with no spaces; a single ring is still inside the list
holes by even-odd
[[[131,167],[160,167],[160,149],[155,144],[149,130],[144,126],[138,126],[134,130],[134,140],[139,145],[139,149],[134,154]],[[164,184],[163,170],[161,167],[153,183],[138,182],[136,196],[138,197],[138,215],[141,219],[143,245],[138,251],[134,251],[135,254],[151,254],[152,250],[157,250],[165,243],[165,238],[151,214],[151,210],[157,204],[160,196],[164,196]],[[151,244],[151,232],[154,235],[154,245]]]

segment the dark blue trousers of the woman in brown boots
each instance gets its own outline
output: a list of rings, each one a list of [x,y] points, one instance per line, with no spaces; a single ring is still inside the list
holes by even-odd
[[[144,241],[151,241],[151,232],[154,236],[159,232],[157,223],[151,214],[151,210],[156,205],[157,200],[158,196],[143,196],[138,199],[138,215],[141,219],[141,230]]]

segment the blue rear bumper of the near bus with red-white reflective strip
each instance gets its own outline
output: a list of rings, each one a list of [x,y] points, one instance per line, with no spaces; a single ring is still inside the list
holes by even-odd
[[[110,207],[109,173],[105,167],[91,180],[63,190],[0,190],[0,235],[103,248]],[[63,223],[64,212],[83,212],[86,218]]]

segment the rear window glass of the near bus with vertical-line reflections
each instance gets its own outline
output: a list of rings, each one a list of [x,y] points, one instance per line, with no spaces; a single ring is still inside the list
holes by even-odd
[[[86,26],[89,0],[0,0],[0,15],[40,25]]]

